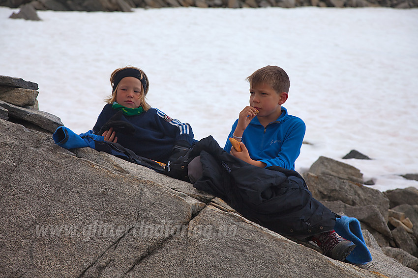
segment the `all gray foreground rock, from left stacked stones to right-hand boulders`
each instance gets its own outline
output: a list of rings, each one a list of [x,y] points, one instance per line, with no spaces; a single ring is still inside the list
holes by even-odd
[[[360,221],[373,257],[335,261],[187,182],[60,148],[37,89],[0,76],[0,277],[418,277],[416,188],[382,193],[320,157],[303,173],[312,195]]]

